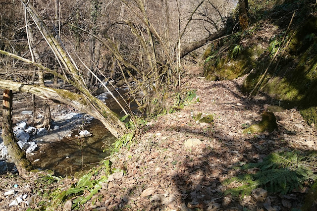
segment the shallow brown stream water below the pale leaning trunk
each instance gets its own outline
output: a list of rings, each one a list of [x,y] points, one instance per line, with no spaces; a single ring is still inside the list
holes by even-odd
[[[74,131],[72,137],[41,143],[40,150],[29,158],[31,161],[40,161],[32,164],[37,168],[51,169],[60,176],[74,175],[76,171],[88,170],[97,165],[108,156],[103,151],[115,141],[115,137],[97,119],[83,129],[90,131],[93,136],[76,138],[74,136],[78,135],[78,131]]]

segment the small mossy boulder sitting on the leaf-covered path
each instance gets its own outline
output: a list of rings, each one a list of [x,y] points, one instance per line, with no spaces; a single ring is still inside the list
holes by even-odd
[[[274,113],[270,111],[264,111],[262,113],[262,120],[259,124],[251,125],[250,127],[244,129],[243,133],[261,133],[267,130],[268,132],[273,132],[277,130],[277,123]]]

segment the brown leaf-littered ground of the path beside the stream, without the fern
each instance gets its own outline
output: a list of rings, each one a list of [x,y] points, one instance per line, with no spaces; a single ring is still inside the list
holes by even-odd
[[[199,77],[199,68],[187,70],[183,89],[196,89],[199,103],[153,119],[136,136],[129,149],[111,160],[112,166],[126,174],[115,173],[94,197],[100,200],[84,205],[85,210],[291,210],[303,205],[305,191],[287,195],[255,195],[243,199],[224,196],[221,182],[236,175],[232,167],[241,162],[257,162],[271,152],[317,150],[317,131],[307,125],[295,108],[286,110],[278,102],[259,94],[247,101],[239,91],[243,78],[208,82]],[[262,112],[274,111],[278,131],[256,135],[242,133],[246,124],[262,119]],[[213,123],[196,123],[199,113],[213,115]],[[36,187],[37,173],[29,178],[2,176],[0,208],[8,209],[12,197],[3,193],[18,184],[18,194],[28,200]],[[58,184],[66,189],[76,178]],[[24,183],[24,184],[23,184]],[[10,201],[11,200],[11,201]],[[37,199],[41,201],[43,199]],[[35,203],[36,204],[36,203]],[[11,210],[26,210],[27,205]],[[39,208],[31,205],[32,208]],[[66,206],[67,207],[67,206]],[[58,207],[62,210],[65,207]]]

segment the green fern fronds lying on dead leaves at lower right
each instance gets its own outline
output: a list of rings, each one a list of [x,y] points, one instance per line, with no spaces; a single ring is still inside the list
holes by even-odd
[[[262,162],[248,163],[241,169],[259,168],[255,174],[241,174],[225,180],[222,184],[228,186],[234,183],[240,185],[230,188],[224,194],[241,197],[250,195],[252,190],[263,187],[270,192],[286,194],[293,189],[302,187],[306,180],[316,180],[317,153],[307,155],[301,152],[271,153]]]

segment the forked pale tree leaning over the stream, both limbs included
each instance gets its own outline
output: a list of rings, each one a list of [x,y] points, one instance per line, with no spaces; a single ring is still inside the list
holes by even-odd
[[[24,92],[30,92],[34,93],[38,96],[43,96],[44,98],[59,99],[58,101],[66,103],[68,105],[72,105],[74,107],[77,107],[78,109],[82,110],[85,113],[88,113],[95,118],[99,119],[106,128],[112,133],[115,137],[121,137],[125,132],[127,132],[125,125],[120,121],[118,116],[113,113],[103,102],[101,102],[99,99],[97,99],[93,94],[89,91],[87,88],[84,79],[78,74],[78,67],[74,63],[74,60],[71,58],[70,54],[66,52],[64,48],[60,45],[60,42],[57,41],[53,35],[51,34],[51,31],[47,28],[46,24],[44,23],[41,16],[38,14],[34,6],[28,1],[28,0],[21,0],[27,11],[29,12],[30,16],[32,17],[33,21],[35,22],[36,26],[42,33],[43,37],[45,38],[46,42],[52,49],[53,53],[55,54],[56,58],[60,60],[66,71],[71,76],[71,79],[67,79],[66,77],[60,76],[59,74],[53,72],[55,75],[59,75],[59,78],[65,79],[67,82],[71,83],[74,87],[76,87],[82,95],[76,95],[72,92],[66,91],[66,90],[54,90],[54,89],[48,89],[45,87],[32,87],[31,90],[24,89],[25,87],[28,87],[29,85],[22,85],[20,83],[15,84],[14,86],[11,85],[14,82],[7,81],[4,82],[2,80],[2,85],[5,86],[12,86],[14,89],[17,89],[19,91],[24,90]],[[4,53],[3,51],[0,51]],[[9,53],[5,53],[9,54]],[[26,60],[26,59],[23,59]],[[52,72],[52,71],[50,71]],[[16,87],[22,86],[22,87]],[[38,93],[40,92],[40,93]],[[48,96],[46,96],[46,94]],[[57,100],[56,99],[56,100]],[[79,103],[77,105],[77,103]]]

